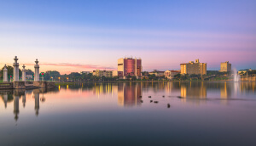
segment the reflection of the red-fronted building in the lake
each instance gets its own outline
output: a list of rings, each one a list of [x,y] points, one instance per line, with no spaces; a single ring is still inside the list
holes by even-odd
[[[142,96],[140,83],[120,83],[118,86],[118,104],[120,106],[141,105],[139,96]]]

